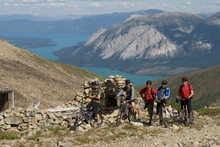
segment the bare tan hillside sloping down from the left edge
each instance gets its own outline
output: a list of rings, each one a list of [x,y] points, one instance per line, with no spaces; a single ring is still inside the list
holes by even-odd
[[[104,80],[95,73],[39,57],[5,40],[0,40],[0,64],[0,86],[15,91],[16,107],[38,101],[40,108],[57,106],[82,92],[86,80]]]

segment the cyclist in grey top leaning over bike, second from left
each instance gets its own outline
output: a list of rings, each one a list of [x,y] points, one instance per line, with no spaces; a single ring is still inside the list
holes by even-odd
[[[125,98],[126,100],[131,100],[131,107],[133,108],[133,113],[134,113],[134,119],[136,120],[136,109],[135,109],[135,89],[134,86],[131,85],[130,80],[125,81],[125,87],[121,89],[121,91],[117,94],[115,99],[117,99],[120,95],[126,91],[127,97]],[[126,102],[125,102],[126,103]]]

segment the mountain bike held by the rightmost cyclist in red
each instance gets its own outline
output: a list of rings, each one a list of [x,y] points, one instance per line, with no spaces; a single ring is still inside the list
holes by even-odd
[[[191,101],[191,98],[189,100]],[[188,107],[186,105],[186,101],[185,100],[181,100],[181,101],[183,101],[183,109],[181,111],[180,119],[184,123],[185,126],[189,126],[191,123],[194,122],[194,112],[192,109],[191,110],[192,117],[190,118],[190,114],[188,112]]]

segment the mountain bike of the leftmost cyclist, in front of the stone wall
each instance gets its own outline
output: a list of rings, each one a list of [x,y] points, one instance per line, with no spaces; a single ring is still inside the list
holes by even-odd
[[[99,114],[99,124],[100,126],[103,123],[103,116],[100,112]],[[97,126],[97,116],[93,115],[92,109],[87,110],[84,107],[80,107],[80,112],[75,114],[75,122],[74,125],[71,127],[72,130],[78,131],[78,127],[82,124],[90,124],[91,127],[96,127]]]

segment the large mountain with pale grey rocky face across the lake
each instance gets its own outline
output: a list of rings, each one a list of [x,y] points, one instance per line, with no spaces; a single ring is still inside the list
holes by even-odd
[[[219,65],[219,32],[194,14],[153,13],[100,28],[84,45],[54,54],[79,67],[171,76]]]

